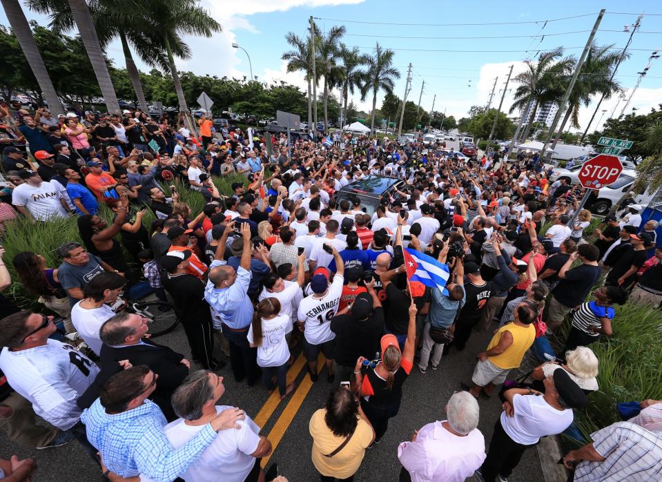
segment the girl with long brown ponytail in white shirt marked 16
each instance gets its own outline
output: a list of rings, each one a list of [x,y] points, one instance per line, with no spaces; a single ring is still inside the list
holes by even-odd
[[[278,298],[264,298],[257,305],[246,336],[251,348],[257,348],[257,365],[262,368],[262,382],[269,391],[278,386],[280,399],[292,392],[294,384],[285,386],[290,350],[285,335],[291,327],[288,315],[279,315]],[[275,383],[274,383],[275,379]]]

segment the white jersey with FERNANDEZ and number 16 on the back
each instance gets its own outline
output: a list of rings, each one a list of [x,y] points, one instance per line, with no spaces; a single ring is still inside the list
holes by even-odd
[[[331,319],[338,312],[343,280],[342,276],[335,275],[327,294],[322,298],[315,294],[306,296],[299,304],[298,317],[306,324],[304,336],[311,345],[321,345],[335,338],[335,333],[331,331]]]

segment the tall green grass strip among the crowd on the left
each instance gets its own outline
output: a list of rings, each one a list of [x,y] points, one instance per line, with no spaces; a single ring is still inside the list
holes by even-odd
[[[231,184],[233,182],[243,182],[244,186],[248,186],[249,182],[243,175],[235,174],[222,178],[214,177],[213,182],[216,185],[221,195],[231,195],[233,193]],[[171,195],[171,189],[164,186],[164,191],[167,195]],[[184,184],[177,184],[177,193],[179,193],[179,202],[186,202],[191,206],[193,216],[202,212],[204,206],[204,197],[197,191],[191,191]],[[142,206],[132,206],[131,211],[135,213],[142,209]],[[111,211],[105,204],[101,205],[99,215],[110,222],[113,219],[113,211]],[[35,304],[36,299],[31,296],[23,285],[21,285],[18,275],[14,270],[12,259],[21,251],[32,251],[33,253],[41,254],[46,258],[48,267],[57,268],[61,264],[61,259],[55,253],[55,250],[67,241],[76,241],[82,243],[81,236],[78,232],[75,217],[73,218],[59,218],[50,222],[43,222],[32,224],[29,220],[23,217],[7,225],[7,230],[3,236],[0,244],[5,249],[5,256],[3,261],[9,269],[12,276],[12,285],[7,289],[6,295],[13,300],[19,307],[28,308]],[[142,224],[145,229],[149,231],[152,222],[156,219],[153,211],[147,210],[144,215]],[[117,235],[119,241],[119,235]],[[126,256],[130,260],[130,256]]]

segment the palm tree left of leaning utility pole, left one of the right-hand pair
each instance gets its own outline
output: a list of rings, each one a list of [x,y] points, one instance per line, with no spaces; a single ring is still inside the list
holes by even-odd
[[[520,84],[515,90],[515,102],[510,108],[510,113],[514,110],[525,110],[530,107],[529,122],[521,139],[526,140],[529,135],[538,106],[547,101],[553,101],[557,93],[554,91],[553,77],[549,70],[554,67],[556,60],[563,55],[563,48],[558,47],[549,52],[541,53],[538,62],[525,60],[527,70],[514,77],[514,81]],[[532,105],[533,104],[533,105]],[[524,115],[524,113],[523,113]]]

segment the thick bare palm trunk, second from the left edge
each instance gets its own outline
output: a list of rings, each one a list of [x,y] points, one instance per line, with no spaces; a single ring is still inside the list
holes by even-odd
[[[85,50],[95,71],[97,82],[99,82],[106,108],[109,113],[119,114],[117,95],[115,94],[115,88],[113,88],[113,81],[110,79],[110,73],[108,73],[104,52],[101,51],[101,46],[99,46],[99,37],[97,37],[97,30],[95,30],[88,5],[85,0],[68,0],[68,2],[71,7],[71,15],[76,21],[78,32],[81,39],[83,39]]]

